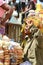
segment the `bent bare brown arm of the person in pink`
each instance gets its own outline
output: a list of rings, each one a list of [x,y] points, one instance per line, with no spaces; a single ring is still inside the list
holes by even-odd
[[[1,23],[4,24],[7,21],[7,19],[11,17],[13,9],[3,0],[0,0],[0,8],[5,10],[5,12],[3,13],[4,16],[1,17],[2,18]]]

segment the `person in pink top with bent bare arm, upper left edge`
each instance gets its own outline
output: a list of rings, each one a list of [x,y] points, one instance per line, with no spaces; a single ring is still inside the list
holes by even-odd
[[[0,34],[5,34],[5,22],[10,19],[13,9],[3,0],[0,0]]]

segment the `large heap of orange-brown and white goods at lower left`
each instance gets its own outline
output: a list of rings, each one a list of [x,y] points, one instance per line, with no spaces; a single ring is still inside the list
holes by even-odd
[[[0,40],[0,65],[17,65],[22,62],[23,51],[17,43],[12,44],[11,41]]]

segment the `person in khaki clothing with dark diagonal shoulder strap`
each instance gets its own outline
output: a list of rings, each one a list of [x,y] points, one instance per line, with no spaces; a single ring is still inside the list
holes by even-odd
[[[24,46],[24,58],[32,65],[43,65],[43,36],[38,28],[30,27],[31,38],[28,37]],[[27,60],[25,58],[25,60]]]

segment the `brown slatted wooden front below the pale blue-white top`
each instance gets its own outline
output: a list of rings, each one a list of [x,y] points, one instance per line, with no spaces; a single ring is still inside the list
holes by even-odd
[[[15,42],[20,42],[21,24],[7,23],[6,35],[14,39]]]

